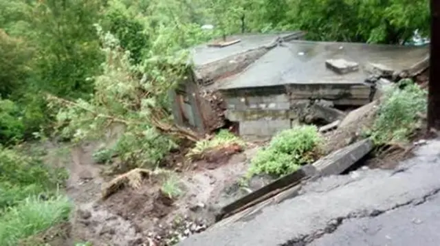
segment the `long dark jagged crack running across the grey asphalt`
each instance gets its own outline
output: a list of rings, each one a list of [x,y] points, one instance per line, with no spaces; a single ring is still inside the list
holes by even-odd
[[[322,230],[318,230],[318,231],[314,232],[313,234],[303,235],[303,236],[294,238],[292,240],[287,241],[284,244],[281,244],[280,246],[305,246],[305,245],[308,245],[309,243],[312,243],[316,239],[321,238],[322,236],[325,236],[326,234],[331,234],[331,233],[335,232],[336,230],[338,230],[338,227],[340,227],[342,225],[342,223],[344,223],[344,221],[346,221],[347,219],[362,219],[362,218],[367,218],[367,217],[372,218],[372,217],[380,216],[381,214],[384,214],[386,212],[391,212],[391,211],[397,210],[399,208],[404,208],[406,206],[421,205],[423,203],[426,203],[426,201],[428,201],[430,199],[430,197],[435,196],[439,192],[440,192],[440,188],[436,188],[436,189],[432,190],[431,192],[428,192],[428,194],[425,194],[421,198],[411,199],[410,201],[405,202],[405,203],[399,203],[399,204],[394,205],[392,208],[389,208],[387,210],[371,210],[371,211],[364,211],[364,212],[354,212],[354,213],[348,214],[347,216],[341,216],[336,219],[332,219],[331,221],[329,221],[327,223],[327,226],[325,228],[323,228]]]

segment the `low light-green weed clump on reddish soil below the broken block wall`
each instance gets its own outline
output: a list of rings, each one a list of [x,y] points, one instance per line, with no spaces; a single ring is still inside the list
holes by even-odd
[[[230,131],[221,130],[212,139],[203,139],[199,142],[196,142],[194,148],[188,152],[186,157],[188,157],[190,160],[203,159],[203,155],[208,153],[210,150],[226,148],[233,145],[243,148],[245,146],[245,142],[243,139],[230,133]]]

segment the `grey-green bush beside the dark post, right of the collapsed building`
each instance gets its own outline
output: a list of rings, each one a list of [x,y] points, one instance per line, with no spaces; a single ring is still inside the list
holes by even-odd
[[[427,92],[412,82],[401,80],[399,87],[386,91],[377,118],[371,130],[375,144],[393,144],[408,141],[417,128],[417,113],[426,113]]]

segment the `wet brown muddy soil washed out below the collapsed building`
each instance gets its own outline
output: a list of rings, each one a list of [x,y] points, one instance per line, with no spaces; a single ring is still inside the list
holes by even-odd
[[[94,164],[97,144],[73,148],[63,160],[69,170],[67,195],[75,203],[69,223],[36,236],[52,246],[89,242],[94,246],[171,245],[214,223],[217,209],[264,186],[254,181],[242,188],[239,179],[256,153],[243,153],[198,161],[179,174],[181,197],[172,201],[161,192],[159,179],[144,179],[138,189],[124,188],[102,201],[101,189],[113,177],[102,175],[104,166]],[[57,148],[52,145],[49,148]],[[61,159],[53,159],[52,163]]]

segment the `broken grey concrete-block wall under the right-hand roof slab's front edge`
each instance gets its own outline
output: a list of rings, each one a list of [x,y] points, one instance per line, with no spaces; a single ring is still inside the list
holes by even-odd
[[[239,122],[240,135],[271,137],[300,123],[333,122],[345,113],[333,106],[362,106],[371,102],[365,84],[274,85],[222,91],[225,118]]]

